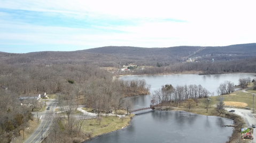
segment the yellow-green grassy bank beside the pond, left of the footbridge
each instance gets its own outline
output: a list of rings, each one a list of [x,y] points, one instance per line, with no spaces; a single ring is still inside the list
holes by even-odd
[[[89,119],[86,121],[86,124],[83,125],[82,130],[84,133],[92,133],[92,137],[95,137],[100,134],[112,132],[127,127],[133,116],[133,114],[131,114],[130,116],[126,116],[123,121],[120,119],[120,117],[102,116],[102,121],[100,122],[100,124],[97,119]]]

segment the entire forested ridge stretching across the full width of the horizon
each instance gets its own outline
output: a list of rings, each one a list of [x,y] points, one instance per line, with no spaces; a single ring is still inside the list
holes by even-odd
[[[169,65],[185,62],[189,58],[198,62],[234,61],[256,57],[256,43],[222,47],[177,46],[168,48],[142,48],[108,46],[71,52],[32,52],[26,54],[0,52],[0,60],[7,64],[39,63],[51,64],[92,64],[98,66],[121,66],[127,63]]]

